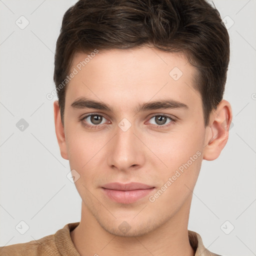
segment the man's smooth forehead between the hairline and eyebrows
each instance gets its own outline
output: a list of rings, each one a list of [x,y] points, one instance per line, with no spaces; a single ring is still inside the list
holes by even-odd
[[[109,104],[118,101],[125,108],[166,96],[181,102],[200,99],[193,87],[196,69],[182,53],[149,47],[77,52],[70,72],[74,70],[67,101],[86,96]]]

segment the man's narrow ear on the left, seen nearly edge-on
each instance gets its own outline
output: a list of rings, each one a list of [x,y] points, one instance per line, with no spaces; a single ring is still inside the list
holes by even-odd
[[[56,132],[56,136],[57,136],[58,146],[60,149],[60,154],[64,159],[68,160],[65,132],[64,132],[64,127],[61,123],[58,100],[55,100],[53,102],[53,107],[54,107],[55,132]]]

